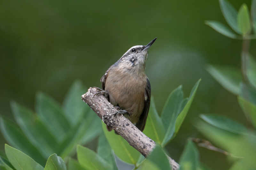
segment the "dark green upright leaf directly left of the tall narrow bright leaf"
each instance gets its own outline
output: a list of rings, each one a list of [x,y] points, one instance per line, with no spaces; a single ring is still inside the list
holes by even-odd
[[[175,130],[175,121],[180,113],[181,103],[183,101],[182,86],[173,90],[164,104],[161,119],[166,131],[162,146],[164,146],[171,138]]]

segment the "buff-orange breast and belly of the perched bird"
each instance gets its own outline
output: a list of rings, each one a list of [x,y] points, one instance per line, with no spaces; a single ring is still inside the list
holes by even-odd
[[[142,74],[142,73],[141,73]],[[144,109],[145,88],[147,77],[127,72],[108,72],[105,90],[109,93],[109,100],[114,106],[119,106],[131,115],[128,117],[132,123],[138,122]]]

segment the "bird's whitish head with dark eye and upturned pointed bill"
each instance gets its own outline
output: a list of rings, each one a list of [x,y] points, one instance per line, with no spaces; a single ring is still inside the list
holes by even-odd
[[[148,48],[156,41],[156,38],[150,41],[147,45],[133,46],[120,58],[120,64],[123,68],[129,70],[145,69],[148,58]]]

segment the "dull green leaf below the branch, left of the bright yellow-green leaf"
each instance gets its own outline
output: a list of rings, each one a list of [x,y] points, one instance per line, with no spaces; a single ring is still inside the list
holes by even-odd
[[[112,170],[118,170],[116,166],[115,157],[112,154],[112,149],[108,144],[108,140],[105,137],[104,132],[102,132],[99,137],[97,153],[98,155],[101,156],[101,158],[105,159],[112,166]]]

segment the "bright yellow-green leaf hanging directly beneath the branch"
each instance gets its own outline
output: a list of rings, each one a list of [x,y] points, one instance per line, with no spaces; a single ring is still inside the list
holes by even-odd
[[[135,165],[140,157],[140,152],[134,149],[126,140],[124,140],[123,137],[116,135],[114,130],[109,132],[104,122],[102,122],[102,128],[105,137],[107,138],[111,148],[114,150],[116,156],[124,162]]]

